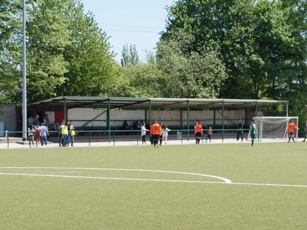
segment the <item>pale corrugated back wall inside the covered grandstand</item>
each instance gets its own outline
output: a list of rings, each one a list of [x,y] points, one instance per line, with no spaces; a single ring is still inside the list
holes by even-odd
[[[91,108],[74,108],[68,110],[68,120],[72,120],[76,127],[84,125],[87,121],[97,117],[103,110],[94,110]],[[168,126],[180,126],[180,111],[179,110],[152,110],[151,120],[158,120]],[[252,111],[248,111],[247,122],[252,118]],[[259,116],[261,112],[259,111]],[[236,126],[237,120],[242,119],[245,123],[245,110],[225,110],[225,127]],[[149,114],[147,110],[147,119]],[[201,121],[205,126],[214,124],[213,110],[190,111],[190,126],[193,126],[196,121]],[[144,110],[111,110],[111,126],[121,127],[123,121],[127,121],[129,126],[132,126],[133,121],[145,121]],[[186,128],[187,111],[182,111],[182,124]],[[215,125],[222,125],[222,110],[215,111]],[[90,122],[88,127],[106,127],[106,112],[104,112],[95,121]]]

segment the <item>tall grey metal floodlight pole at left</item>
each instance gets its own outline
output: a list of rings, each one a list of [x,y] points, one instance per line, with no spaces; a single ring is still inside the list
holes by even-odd
[[[23,0],[23,141],[27,141],[26,0]]]

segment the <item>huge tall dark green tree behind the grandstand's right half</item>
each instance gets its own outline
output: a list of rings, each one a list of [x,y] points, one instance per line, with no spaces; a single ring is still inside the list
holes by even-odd
[[[195,37],[188,52],[203,45],[218,50],[230,76],[221,97],[281,98],[280,86],[297,79],[290,80],[289,73],[304,68],[305,39],[289,24],[289,8],[282,8],[280,1],[179,0],[168,11],[162,38],[182,28]]]

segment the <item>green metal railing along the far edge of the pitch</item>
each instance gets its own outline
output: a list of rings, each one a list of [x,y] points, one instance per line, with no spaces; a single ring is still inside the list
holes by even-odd
[[[203,133],[202,133],[202,143],[204,143],[204,135],[207,134],[207,131],[208,129],[204,129],[203,130]],[[225,138],[225,133],[235,133],[237,132],[238,130],[237,129],[213,129],[213,134],[214,136],[216,136],[216,134],[218,135],[221,135],[222,134],[222,143],[224,143],[224,140],[227,139]],[[242,129],[243,132],[248,132],[249,129]],[[16,137],[16,135],[22,135],[22,133],[24,133],[23,131],[5,131],[5,132],[0,132],[0,136],[1,134],[5,134],[5,137],[6,137],[6,141],[7,141],[7,148],[9,148],[9,140],[10,138],[12,137]],[[28,131],[26,133],[29,133]],[[35,132],[36,133],[36,132]],[[56,134],[55,136],[49,136],[49,139],[50,138],[56,138],[56,137],[60,137],[60,134],[59,134],[59,131],[48,131],[49,134]],[[125,141],[136,141],[137,142],[137,145],[139,145],[139,142],[141,142],[141,138],[140,138],[140,135],[141,135],[141,130],[84,130],[84,131],[77,131],[75,130],[75,133],[76,135],[75,136],[81,136],[82,134],[83,135],[83,138],[78,140],[75,139],[75,143],[78,143],[78,141],[80,140],[85,140],[85,136],[87,135],[87,141],[89,143],[89,146],[91,146],[91,136],[93,134],[97,134],[98,136],[99,133],[102,133],[101,136],[103,136],[103,133],[106,133],[106,139],[103,140],[103,141],[100,141],[100,142],[113,142],[113,146],[115,146],[115,143],[116,143],[116,136],[117,135],[121,135],[122,137],[125,137],[125,136],[130,136],[132,137],[129,138],[129,140],[125,140]],[[149,133],[149,132],[146,132],[146,133]],[[181,140],[181,143],[183,144],[183,140],[187,140],[189,141],[190,140],[190,137],[193,136],[194,134],[194,130],[191,130],[191,129],[172,129],[171,131],[169,131],[169,135],[173,134],[173,133],[176,133],[177,136],[178,134],[180,134],[180,138],[177,138],[176,140]],[[58,136],[57,136],[58,135]],[[36,136],[36,134],[34,134],[34,137]],[[135,137],[133,137],[135,136]],[[233,138],[233,135],[232,137]],[[29,142],[29,141],[27,141]],[[93,141],[92,141],[93,142]],[[1,143],[1,142],[0,142]],[[39,145],[39,143],[37,142],[37,139],[35,138],[35,143],[36,143],[36,147]]]

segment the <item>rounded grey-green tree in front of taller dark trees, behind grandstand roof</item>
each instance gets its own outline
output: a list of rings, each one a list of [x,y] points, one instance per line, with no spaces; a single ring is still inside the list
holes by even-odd
[[[158,44],[157,64],[163,97],[215,98],[227,78],[225,66],[216,51],[199,47],[190,51],[195,37],[173,30]]]

